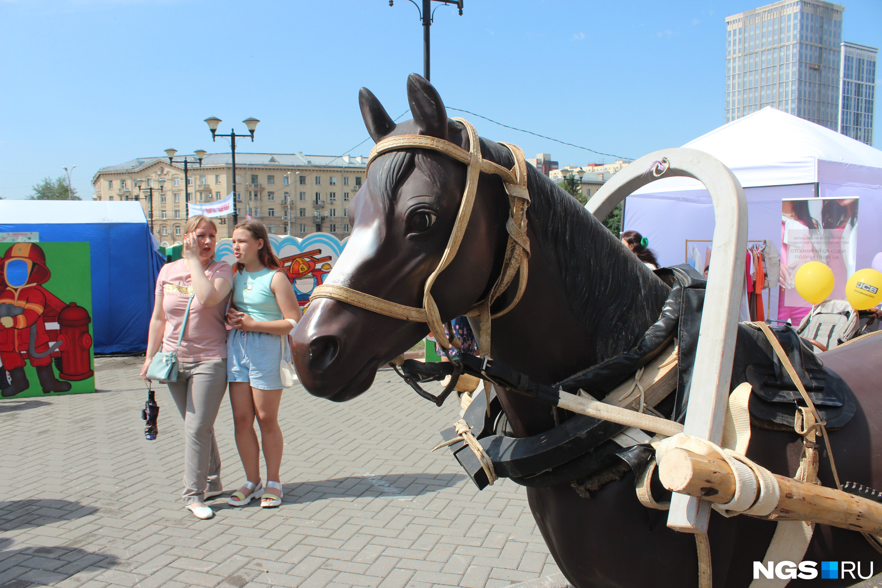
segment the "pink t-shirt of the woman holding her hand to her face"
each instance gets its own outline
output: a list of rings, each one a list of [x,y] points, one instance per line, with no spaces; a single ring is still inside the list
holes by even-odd
[[[206,267],[206,278],[226,279],[233,284],[233,268],[225,261],[213,261]],[[165,264],[156,279],[156,295],[162,296],[162,309],[166,313],[166,329],[162,336],[162,351],[175,351],[177,338],[181,334],[183,315],[187,302],[193,293],[190,270],[178,259]],[[227,314],[229,297],[213,307],[202,306],[194,296],[190,307],[190,318],[183,332],[177,358],[181,361],[221,360],[227,357],[227,328],[224,316]]]

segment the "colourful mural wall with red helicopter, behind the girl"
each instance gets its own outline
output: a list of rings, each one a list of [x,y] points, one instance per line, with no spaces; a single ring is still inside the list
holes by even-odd
[[[303,239],[287,234],[270,235],[273,252],[279,256],[282,269],[288,275],[301,307],[310,301],[310,294],[315,287],[325,283],[325,276],[337,263],[347,241],[348,239],[344,239],[341,242],[330,233],[313,233]],[[233,246],[229,239],[218,242],[216,257],[230,265],[235,264]]]

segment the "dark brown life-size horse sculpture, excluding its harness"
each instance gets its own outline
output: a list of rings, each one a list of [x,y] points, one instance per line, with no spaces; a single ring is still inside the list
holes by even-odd
[[[459,123],[425,79],[407,80],[412,121],[395,124],[363,88],[364,123],[374,141],[422,134],[468,148]],[[481,139],[482,157],[512,167],[502,145]],[[659,316],[669,288],[579,203],[528,167],[529,259],[527,290],[519,304],[493,320],[493,357],[517,366],[532,380],[556,383],[632,348]],[[349,206],[348,245],[328,283],[351,287],[408,306],[422,305],[423,285],[437,267],[451,233],[466,181],[466,166],[441,153],[404,149],[373,162],[367,182]],[[437,279],[432,294],[444,320],[464,314],[497,279],[505,254],[508,200],[497,175],[482,174],[475,208],[460,252]],[[676,218],[668,222],[676,223]],[[494,305],[513,300],[517,279]],[[343,402],[370,388],[377,368],[428,332],[408,323],[328,298],[317,299],[295,330],[295,366],[310,393]],[[822,354],[856,396],[856,415],[830,434],[841,480],[882,488],[882,337]],[[515,435],[536,435],[555,426],[548,406],[498,391]],[[754,428],[749,457],[774,473],[793,476],[802,438],[792,431]],[[832,484],[826,457],[821,481]],[[663,489],[658,486],[656,493]],[[590,498],[569,484],[527,488],[527,497],[551,554],[578,588],[697,586],[698,562],[690,534],[670,530],[666,513],[647,510],[627,473]],[[658,500],[662,500],[658,497]],[[714,586],[744,588],[753,579],[774,534],[773,522],[712,515],[709,540]],[[857,532],[818,525],[805,560],[863,562],[866,573],[878,553]],[[878,566],[877,566],[878,571]],[[826,580],[847,586],[859,580]],[[790,586],[813,585],[792,580]]]

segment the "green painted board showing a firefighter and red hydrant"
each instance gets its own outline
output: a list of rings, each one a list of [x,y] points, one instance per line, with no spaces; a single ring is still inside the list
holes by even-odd
[[[0,398],[95,391],[88,242],[0,242]]]

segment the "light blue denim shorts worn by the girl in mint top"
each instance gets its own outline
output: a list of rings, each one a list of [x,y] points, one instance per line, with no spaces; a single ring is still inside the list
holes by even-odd
[[[229,382],[250,382],[258,390],[282,388],[279,364],[282,344],[279,335],[258,331],[229,331],[227,337],[227,379]],[[291,351],[284,346],[285,359]]]

